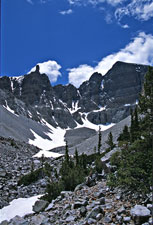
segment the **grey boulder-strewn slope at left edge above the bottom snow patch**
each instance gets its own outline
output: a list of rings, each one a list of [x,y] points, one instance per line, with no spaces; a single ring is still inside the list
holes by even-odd
[[[39,148],[19,142],[11,138],[0,137],[0,209],[9,205],[13,199],[29,198],[45,193],[49,182],[43,177],[28,186],[18,185],[20,177],[33,169],[41,167],[41,159],[33,158],[40,151]],[[53,168],[57,168],[59,161],[45,159]],[[54,173],[53,179],[54,179]]]

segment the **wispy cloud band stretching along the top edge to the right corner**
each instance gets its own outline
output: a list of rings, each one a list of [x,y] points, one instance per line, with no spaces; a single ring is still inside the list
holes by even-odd
[[[106,11],[106,22],[112,22],[111,17],[115,17],[118,23],[125,16],[134,17],[140,21],[147,21],[153,17],[153,1],[152,0],[67,0],[73,6],[91,5]],[[105,4],[104,4],[105,3]],[[107,6],[111,7],[111,14],[107,12]],[[121,25],[121,24],[120,24]],[[127,28],[128,25],[123,25]]]

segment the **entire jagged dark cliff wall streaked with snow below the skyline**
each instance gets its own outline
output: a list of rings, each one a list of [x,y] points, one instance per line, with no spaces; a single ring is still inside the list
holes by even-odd
[[[147,66],[116,62],[102,76],[94,73],[77,89],[72,84],[52,87],[45,74],[36,71],[22,77],[0,79],[0,103],[17,114],[54,127],[74,128],[83,113],[95,124],[119,122],[134,108],[142,89]],[[30,114],[29,114],[30,112]]]

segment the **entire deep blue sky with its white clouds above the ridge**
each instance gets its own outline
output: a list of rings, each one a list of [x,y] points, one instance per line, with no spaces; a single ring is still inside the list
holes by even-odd
[[[117,61],[153,65],[152,0],[1,0],[1,75],[37,63],[53,85],[79,86]]]

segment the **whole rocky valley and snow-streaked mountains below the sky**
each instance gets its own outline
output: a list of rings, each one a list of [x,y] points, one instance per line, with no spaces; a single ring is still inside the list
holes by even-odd
[[[0,77],[0,225],[152,224],[151,190],[133,191],[127,161],[120,183],[109,175],[120,176],[122,149],[132,155],[145,140],[132,124],[144,123],[137,108],[148,68],[118,61],[79,88],[52,86],[39,65]]]

